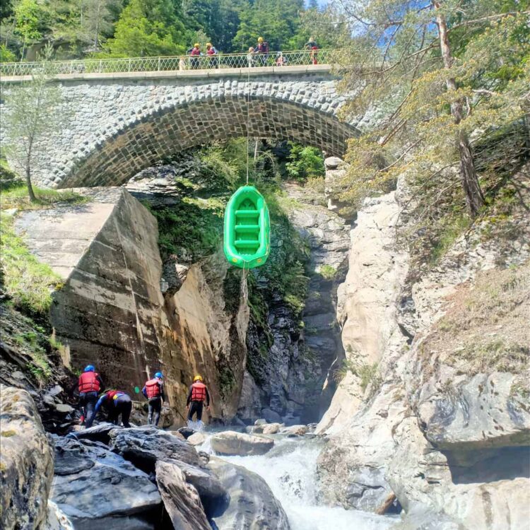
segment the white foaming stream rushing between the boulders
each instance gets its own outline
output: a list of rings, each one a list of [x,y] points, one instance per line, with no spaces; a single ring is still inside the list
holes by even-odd
[[[267,454],[222,458],[264,478],[281,502],[291,530],[386,530],[399,520],[397,516],[318,505],[317,457],[322,450],[322,442],[281,436],[274,438],[276,444]],[[209,440],[201,449],[212,452]]]

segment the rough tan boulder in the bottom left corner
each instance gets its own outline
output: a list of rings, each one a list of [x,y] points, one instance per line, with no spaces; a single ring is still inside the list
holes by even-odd
[[[46,519],[53,452],[27,391],[0,386],[0,526],[33,529]]]

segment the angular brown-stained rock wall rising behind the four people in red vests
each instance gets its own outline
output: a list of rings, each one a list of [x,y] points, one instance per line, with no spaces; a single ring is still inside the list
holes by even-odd
[[[125,189],[76,192],[90,202],[23,212],[16,220],[30,250],[64,279],[51,311],[56,336],[66,346],[64,363],[74,370],[95,364],[107,387],[133,398],[135,388],[163,370],[180,423],[187,388],[201,373],[208,379],[212,415],[232,417],[245,366],[248,310],[241,305],[225,312],[223,261],[212,257],[186,267],[182,288],[164,295],[151,213]],[[228,383],[220,375],[224,366],[231,367]]]

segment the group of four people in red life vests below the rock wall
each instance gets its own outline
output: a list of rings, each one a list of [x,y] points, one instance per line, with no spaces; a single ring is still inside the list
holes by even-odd
[[[158,425],[160,412],[165,401],[163,373],[156,372],[153,379],[146,381],[142,389],[143,396],[148,400],[148,425]],[[132,411],[132,400],[129,394],[116,389],[108,389],[100,394],[103,388],[103,380],[93,365],[87,365],[83,373],[78,377],[77,382],[71,388],[71,394],[76,389],[79,392],[78,405],[81,408],[81,424],[90,428],[98,413],[105,411],[107,421],[119,425],[120,418],[124,427],[131,427],[129,418]],[[204,404],[206,410],[210,410],[210,394],[203,378],[200,375],[194,377],[193,383],[189,386],[186,400],[187,420],[196,422],[202,420]]]

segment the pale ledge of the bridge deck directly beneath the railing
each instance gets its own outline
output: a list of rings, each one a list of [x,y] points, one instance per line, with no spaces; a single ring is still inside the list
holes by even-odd
[[[57,81],[95,81],[114,79],[208,79],[208,78],[248,78],[248,76],[305,76],[314,73],[330,73],[331,64],[305,64],[298,66],[253,66],[252,68],[223,68],[198,70],[164,70],[133,72],[93,72],[58,73]],[[0,76],[1,83],[21,83],[30,81],[32,76]]]

